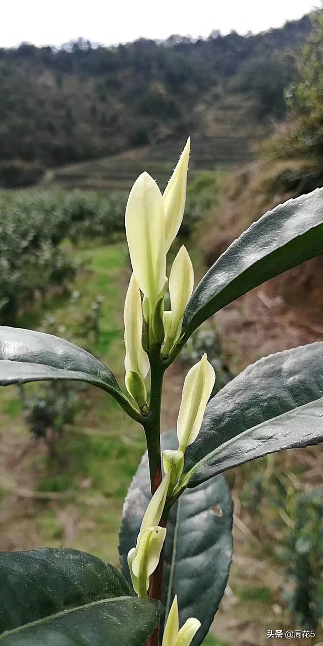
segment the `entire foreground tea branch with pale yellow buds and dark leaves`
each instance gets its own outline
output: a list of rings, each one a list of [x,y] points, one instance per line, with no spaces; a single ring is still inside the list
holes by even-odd
[[[183,218],[189,141],[165,192],[144,172],[127,202],[133,274],[125,299],[125,384],[85,350],[0,328],[0,382],[84,381],[143,426],[143,457],[123,508],[121,572],[76,550],[0,554],[4,646],[201,644],[224,594],[232,503],[222,474],[323,439],[323,343],[265,357],[207,403],[206,355],[189,370],[175,432],[160,437],[163,378],[197,329],[253,287],[323,252],[323,189],[279,205],[229,246],[193,291],[185,247],[167,282]],[[163,311],[166,290],[171,309]],[[150,386],[147,375],[150,373]]]

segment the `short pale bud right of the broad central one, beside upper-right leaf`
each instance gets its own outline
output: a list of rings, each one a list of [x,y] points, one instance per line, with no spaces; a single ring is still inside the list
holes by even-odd
[[[182,245],[172,264],[169,275],[169,296],[171,297],[171,326],[163,347],[163,354],[168,354],[171,346],[180,336],[182,318],[191,298],[194,287],[194,270],[187,249]]]

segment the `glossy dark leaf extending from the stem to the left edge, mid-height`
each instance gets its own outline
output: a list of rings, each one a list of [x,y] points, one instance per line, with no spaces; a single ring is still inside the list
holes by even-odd
[[[72,379],[85,381],[127,401],[101,361],[73,343],[30,329],[0,326],[0,385]]]

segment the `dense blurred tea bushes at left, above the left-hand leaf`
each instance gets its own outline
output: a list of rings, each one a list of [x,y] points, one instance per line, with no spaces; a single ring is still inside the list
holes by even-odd
[[[62,245],[111,240],[124,228],[123,196],[94,192],[0,193],[0,315],[13,324],[50,287],[62,289],[76,264]]]

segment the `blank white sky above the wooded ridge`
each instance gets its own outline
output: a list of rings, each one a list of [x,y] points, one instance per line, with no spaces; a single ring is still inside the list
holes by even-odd
[[[1,0],[0,0],[1,3]],[[79,36],[112,45],[171,34],[244,34],[299,18],[320,0],[2,0],[0,47],[61,45]]]

